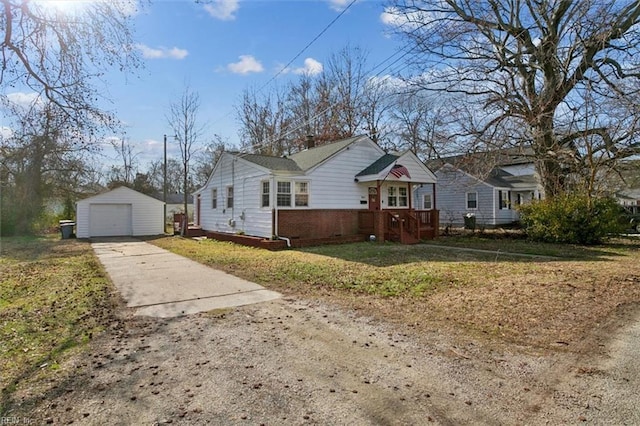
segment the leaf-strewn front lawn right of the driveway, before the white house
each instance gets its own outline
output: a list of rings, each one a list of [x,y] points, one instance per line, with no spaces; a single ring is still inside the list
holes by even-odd
[[[571,349],[640,302],[639,244],[630,241],[576,247],[473,236],[281,252],[176,237],[153,243],[285,295],[534,348]]]

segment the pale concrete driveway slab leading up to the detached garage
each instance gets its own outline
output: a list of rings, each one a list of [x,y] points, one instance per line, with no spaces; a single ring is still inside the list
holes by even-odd
[[[143,241],[100,239],[91,247],[136,315],[167,318],[280,297]]]

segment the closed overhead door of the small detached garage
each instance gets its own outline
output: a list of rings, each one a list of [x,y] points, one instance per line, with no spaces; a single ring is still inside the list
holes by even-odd
[[[129,236],[132,233],[131,204],[91,204],[89,208],[91,237]]]

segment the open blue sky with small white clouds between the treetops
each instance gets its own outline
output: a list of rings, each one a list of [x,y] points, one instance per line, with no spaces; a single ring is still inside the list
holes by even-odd
[[[134,17],[145,68],[110,74],[106,96],[111,102],[105,108],[125,123],[126,137],[144,164],[162,158],[162,138],[170,133],[169,104],[188,84],[200,95],[199,119],[207,126],[207,139],[215,133],[237,145],[234,108],[243,90],[267,84],[349,3],[156,0]],[[384,11],[382,1],[357,1],[264,90],[285,84],[303,69],[320,70],[347,44],[367,51],[372,67],[389,58],[400,41],[390,36]],[[179,156],[169,142],[169,156]],[[104,153],[113,156],[113,149],[105,148]]]

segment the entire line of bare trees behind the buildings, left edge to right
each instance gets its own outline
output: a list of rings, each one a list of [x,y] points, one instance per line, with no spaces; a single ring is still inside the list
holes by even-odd
[[[141,170],[124,139],[113,144],[122,163],[106,179],[96,172],[99,142],[118,126],[96,108],[91,82],[140,63],[126,3],[91,2],[71,15],[38,2],[0,5],[0,96],[15,118],[0,145],[3,233],[33,230],[51,197],[71,205],[105,183],[161,190],[162,159]],[[427,160],[528,146],[550,199],[580,192],[590,200],[634,164],[626,160],[640,153],[637,1],[394,0],[386,13],[405,41],[407,75],[374,74],[367,54],[347,46],[317,75],[245,90],[238,148],[286,155],[304,149],[308,135],[320,145],[366,134]],[[7,95],[15,86],[39,95],[18,107]],[[188,88],[169,106],[181,148],[167,164],[171,193],[202,184],[229,148],[204,140],[198,108]]]

